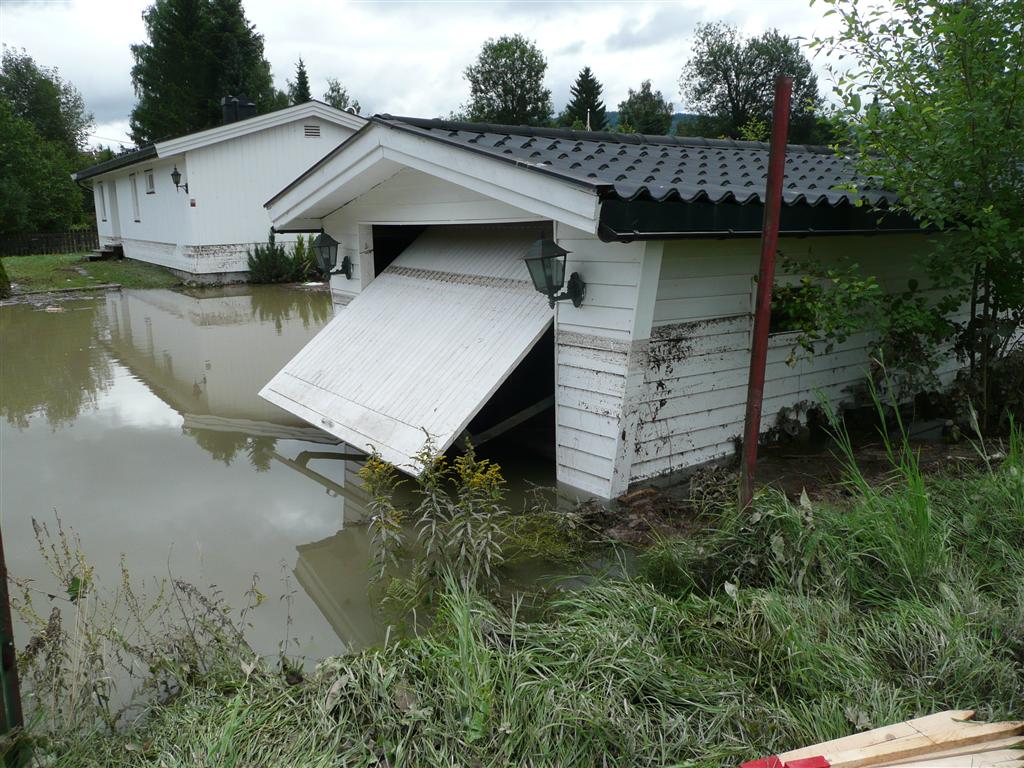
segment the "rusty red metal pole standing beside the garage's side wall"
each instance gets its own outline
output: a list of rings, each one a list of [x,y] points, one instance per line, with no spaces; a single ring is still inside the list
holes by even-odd
[[[739,505],[750,506],[754,499],[754,469],[758,462],[758,438],[761,434],[761,406],[765,392],[765,365],[768,360],[768,325],[771,321],[771,289],[775,281],[775,251],[778,244],[778,220],[782,211],[782,177],[785,175],[785,137],[790,127],[790,99],[793,78],[775,81],[775,105],[772,110],[771,144],[768,150],[768,181],[765,186],[765,216],[761,226],[761,268],[754,308],[754,341],[751,345],[751,372],[746,380],[746,418],[743,423],[743,453],[739,477]]]

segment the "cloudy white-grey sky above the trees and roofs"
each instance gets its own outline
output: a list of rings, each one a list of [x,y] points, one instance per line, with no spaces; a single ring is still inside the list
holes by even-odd
[[[152,0],[0,0],[0,42],[25,48],[57,67],[85,97],[96,119],[93,142],[128,142],[135,95],[129,45],[143,40],[142,10]],[[263,35],[279,88],[294,77],[299,56],[313,96],[337,77],[364,114],[441,117],[464,103],[463,71],[484,40],[521,33],[548,58],[556,109],[589,65],[604,85],[610,110],[644,79],[680,102],[679,72],[694,26],[725,20],[745,34],[776,27],[810,38],[830,31],[825,8],[808,0],[676,0],[617,2],[412,2],[378,0],[245,0]],[[815,61],[821,90],[827,83]]]

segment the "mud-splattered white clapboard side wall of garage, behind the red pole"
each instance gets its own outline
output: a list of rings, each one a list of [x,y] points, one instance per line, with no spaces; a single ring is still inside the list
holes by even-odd
[[[852,260],[877,274],[888,290],[915,276],[913,254],[926,237],[835,238],[783,241],[783,256]],[[757,241],[691,241],[665,245],[651,339],[636,355],[628,396],[637,416],[631,437],[632,481],[731,455],[742,432],[750,366],[752,308],[758,268]],[[777,282],[795,280],[781,273]],[[853,336],[827,354],[798,355],[795,335],[770,339],[762,431],[783,408],[818,396],[850,401],[862,391],[868,368],[867,334]],[[948,359],[939,371],[956,370]]]

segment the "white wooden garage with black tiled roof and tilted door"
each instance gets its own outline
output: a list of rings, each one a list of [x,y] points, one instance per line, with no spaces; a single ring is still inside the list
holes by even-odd
[[[280,230],[323,227],[352,271],[332,279],[344,308],[261,394],[410,471],[426,434],[445,449],[500,424],[474,426],[496,401],[508,416],[553,399],[558,478],[602,498],[726,457],[742,431],[767,155],[376,116],[267,203]],[[903,289],[928,237],[857,205],[852,178],[828,150],[791,146],[780,250],[851,257]],[[535,290],[523,257],[539,238],[569,252],[579,306]],[[793,335],[773,336],[762,429],[819,389],[851,397],[867,341],[791,366]]]

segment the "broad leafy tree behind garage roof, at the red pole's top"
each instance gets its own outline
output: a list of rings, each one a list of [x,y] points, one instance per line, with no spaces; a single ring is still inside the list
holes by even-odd
[[[701,135],[741,138],[744,129],[750,132],[761,123],[767,126],[767,138],[779,75],[794,79],[790,141],[828,140],[817,118],[822,100],[811,62],[796,41],[777,30],[743,38],[726,24],[698,25],[693,55],[683,68],[679,89],[701,117]]]

